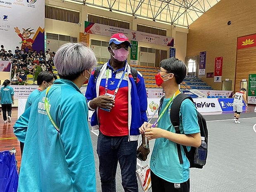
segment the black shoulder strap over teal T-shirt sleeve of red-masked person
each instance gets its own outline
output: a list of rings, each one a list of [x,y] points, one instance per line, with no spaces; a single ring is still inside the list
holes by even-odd
[[[177,134],[180,134],[180,105],[185,99],[192,100],[192,98],[190,96],[185,95],[184,93],[180,93],[179,95],[177,95],[174,98],[173,104],[171,106],[171,113],[170,113],[171,123],[173,124],[173,126],[175,128],[175,133],[177,133]],[[183,145],[183,149],[184,149],[185,153],[187,154],[187,147]],[[178,143],[177,143],[177,150],[178,150],[180,164],[183,164],[181,148],[180,148],[180,144],[178,144]]]

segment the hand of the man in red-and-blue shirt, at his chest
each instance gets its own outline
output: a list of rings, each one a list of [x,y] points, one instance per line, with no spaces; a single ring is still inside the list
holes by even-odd
[[[115,100],[108,95],[100,95],[90,101],[90,107],[96,109],[97,107],[104,109],[112,109],[114,107]]]

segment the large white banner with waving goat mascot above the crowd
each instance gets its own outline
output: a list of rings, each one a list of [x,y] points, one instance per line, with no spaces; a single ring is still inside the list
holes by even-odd
[[[0,42],[6,51],[44,50],[45,1],[0,0]]]

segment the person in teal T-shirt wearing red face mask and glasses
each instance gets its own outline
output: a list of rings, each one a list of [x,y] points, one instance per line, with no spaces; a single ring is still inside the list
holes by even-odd
[[[171,105],[180,94],[179,84],[186,76],[187,67],[175,57],[162,60],[160,66],[159,73],[155,76],[156,85],[162,86],[166,95],[159,118],[154,124],[145,122],[140,128],[140,133],[145,134],[149,140],[156,139],[150,160],[152,192],[189,192],[190,162],[183,147],[180,147],[183,159],[183,164],[180,164],[177,143],[187,146],[188,151],[191,146],[201,145],[197,109],[189,99],[181,103],[181,134],[175,133],[170,119]],[[155,127],[156,124],[158,128]]]

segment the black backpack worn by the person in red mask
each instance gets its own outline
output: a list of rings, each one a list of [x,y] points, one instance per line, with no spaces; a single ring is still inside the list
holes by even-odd
[[[162,97],[160,100],[158,113],[160,111],[164,97]],[[173,126],[175,128],[175,133],[178,133],[178,134],[180,134],[180,128],[179,128],[179,126],[180,126],[180,118],[179,118],[180,105],[185,99],[190,99],[194,103],[193,99],[190,96],[180,93],[179,95],[177,95],[175,97],[175,99],[173,100],[173,104],[171,106],[171,113],[170,113],[171,123],[173,124]],[[198,118],[198,124],[199,124],[199,128],[200,128],[201,137],[205,138],[204,141],[206,142],[206,146],[207,146],[207,148],[206,148],[206,158],[207,158],[208,129],[207,129],[207,125],[206,125],[206,120],[204,119],[204,116],[202,116],[199,112],[197,112],[197,118]],[[190,161],[190,168],[203,168],[203,165],[194,163],[194,154],[196,151],[196,147],[191,147],[190,152],[187,151],[187,147],[184,145],[183,145],[183,149],[185,151],[187,159]],[[183,164],[181,148],[180,148],[180,144],[178,144],[178,143],[177,143],[177,150],[178,150],[180,164]]]

